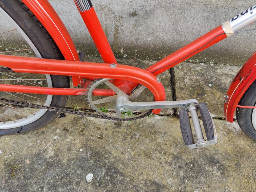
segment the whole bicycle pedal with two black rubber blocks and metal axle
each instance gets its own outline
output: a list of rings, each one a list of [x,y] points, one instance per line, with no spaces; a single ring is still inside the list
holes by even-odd
[[[202,128],[199,122],[197,111],[200,111],[201,118],[203,121],[203,127],[205,130],[205,134],[207,137],[207,141],[203,137]],[[191,114],[194,132],[196,141],[194,142],[194,137],[192,133],[192,128],[190,125],[189,114]],[[198,105],[190,105],[187,109],[181,109],[179,112],[179,122],[181,126],[181,134],[185,144],[189,147],[189,149],[202,148],[209,145],[216,144],[217,141],[217,133],[216,128],[213,123],[213,119],[211,114],[205,105],[205,103],[199,103]]]

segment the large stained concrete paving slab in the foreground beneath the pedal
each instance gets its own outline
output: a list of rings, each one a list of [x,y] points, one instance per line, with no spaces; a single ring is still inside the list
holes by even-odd
[[[179,120],[66,115],[0,137],[0,191],[255,191],[256,143],[214,119],[219,143],[189,150]]]

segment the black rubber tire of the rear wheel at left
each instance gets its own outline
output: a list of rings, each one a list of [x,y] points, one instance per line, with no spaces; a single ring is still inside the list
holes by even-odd
[[[19,25],[33,42],[43,58],[61,59],[64,57],[45,27],[20,0],[0,0],[0,7]],[[69,87],[69,76],[51,75],[53,87]],[[66,95],[53,95],[50,106],[64,107]],[[58,113],[46,111],[38,120],[22,127],[0,129],[0,135],[25,133],[47,125],[58,117]]]

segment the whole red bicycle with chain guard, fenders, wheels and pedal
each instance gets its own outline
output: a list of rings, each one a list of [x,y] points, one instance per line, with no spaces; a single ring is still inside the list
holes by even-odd
[[[158,114],[161,109],[182,108],[181,133],[190,149],[217,143],[211,114],[196,99],[165,101],[165,90],[156,77],[215,43],[241,32],[256,21],[256,6],[182,47],[147,69],[119,65],[90,0],[74,0],[104,63],[83,62],[57,13],[46,0],[0,0],[0,12],[14,26],[38,58],[0,55],[0,135],[25,133],[55,119],[60,112],[130,121]],[[6,48],[6,51],[10,52]],[[27,53],[28,56],[30,53]],[[234,78],[227,92],[224,113],[256,140],[256,52]],[[74,86],[69,88],[69,77]],[[143,101],[143,94],[151,94]],[[92,112],[65,109],[67,95],[86,95]],[[113,106],[113,111],[105,106]],[[207,141],[198,117],[200,111]],[[193,122],[196,140],[190,125]]]

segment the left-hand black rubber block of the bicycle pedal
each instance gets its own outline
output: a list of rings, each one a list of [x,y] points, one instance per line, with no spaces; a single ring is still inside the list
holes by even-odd
[[[186,109],[179,111],[179,124],[181,126],[181,134],[186,145],[194,144],[193,133],[189,121],[189,114]]]

